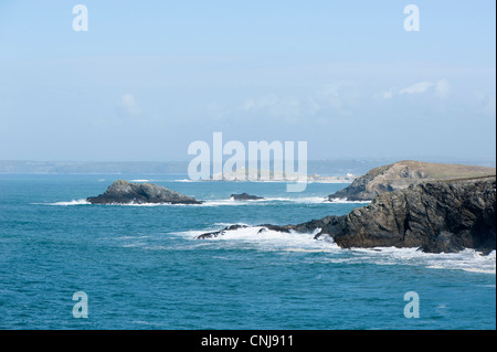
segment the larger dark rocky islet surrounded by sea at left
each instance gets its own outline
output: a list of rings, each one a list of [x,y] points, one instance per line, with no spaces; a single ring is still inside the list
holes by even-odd
[[[87,202],[92,204],[201,204],[192,196],[188,196],[163,186],[150,183],[130,183],[116,181],[110,184],[104,194],[91,196]]]

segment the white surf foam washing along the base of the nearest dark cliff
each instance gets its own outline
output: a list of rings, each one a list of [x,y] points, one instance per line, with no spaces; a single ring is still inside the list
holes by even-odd
[[[231,244],[236,248],[250,246],[258,250],[322,253],[322,256],[319,258],[313,257],[313,260],[320,263],[411,265],[431,269],[455,269],[469,273],[496,274],[495,250],[488,255],[482,255],[474,249],[441,254],[423,253],[417,250],[417,248],[395,247],[342,249],[329,237],[314,239],[319,230],[306,234],[296,232],[282,233],[267,228],[261,231],[262,228],[265,227],[251,226],[224,231],[222,235],[208,238],[207,241],[212,244]],[[212,231],[215,230],[191,231],[184,232],[182,235],[193,239],[203,233]],[[231,245],[230,247],[232,247]]]

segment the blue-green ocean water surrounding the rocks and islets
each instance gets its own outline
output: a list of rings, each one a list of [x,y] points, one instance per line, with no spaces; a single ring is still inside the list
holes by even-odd
[[[115,180],[148,180],[202,205],[91,205]],[[0,175],[0,329],[496,329],[495,252],[341,249],[288,224],[346,214],[346,184],[187,182],[186,175]],[[247,192],[265,201],[234,202]],[[73,295],[88,297],[75,319]],[[408,319],[404,294],[420,297]]]

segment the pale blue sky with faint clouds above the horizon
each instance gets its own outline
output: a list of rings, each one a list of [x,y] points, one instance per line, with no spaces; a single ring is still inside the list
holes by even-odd
[[[408,4],[419,31],[406,31]],[[87,31],[75,31],[76,4]],[[496,3],[0,0],[0,160],[495,160]]]

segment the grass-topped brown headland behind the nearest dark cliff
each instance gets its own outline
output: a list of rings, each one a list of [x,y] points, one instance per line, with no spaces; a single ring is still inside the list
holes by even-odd
[[[411,184],[426,181],[453,180],[495,175],[496,169],[459,164],[443,164],[421,161],[399,161],[370,170],[349,186],[328,196],[349,201],[370,201],[384,192],[404,190]]]

